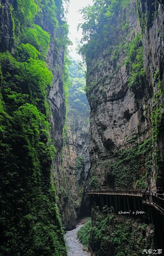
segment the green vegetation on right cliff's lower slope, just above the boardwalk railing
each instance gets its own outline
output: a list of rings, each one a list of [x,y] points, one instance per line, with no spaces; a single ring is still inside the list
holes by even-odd
[[[102,176],[106,178],[110,175],[111,186],[115,188],[130,189],[134,184],[137,189],[147,188],[153,165],[152,141],[150,137],[138,144],[134,138],[128,142],[131,143],[130,148],[116,150],[115,158],[97,161],[96,165],[91,167],[90,189],[98,190],[101,187],[102,178],[95,175],[95,169],[101,170]]]

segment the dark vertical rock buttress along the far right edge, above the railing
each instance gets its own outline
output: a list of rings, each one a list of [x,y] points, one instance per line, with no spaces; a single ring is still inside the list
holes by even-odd
[[[139,22],[144,46],[144,65],[153,97],[150,102],[153,165],[150,188],[164,187],[164,1],[139,1]]]

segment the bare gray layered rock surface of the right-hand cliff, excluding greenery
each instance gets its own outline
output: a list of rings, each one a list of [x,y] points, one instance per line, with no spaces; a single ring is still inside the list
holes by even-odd
[[[141,144],[145,139],[153,135],[153,122],[151,118],[152,110],[159,107],[162,98],[158,103],[153,100],[155,94],[159,93],[158,82],[153,78],[154,73],[159,71],[159,77],[163,90],[164,81],[164,5],[159,4],[157,0],[146,0],[139,2],[139,16],[134,0],[131,0],[130,13],[127,14],[129,22],[129,32],[126,36],[126,42],[141,32],[143,36],[144,63],[146,70],[146,80],[136,88],[128,87],[128,72],[125,66],[126,53],[122,51],[115,62],[112,62],[109,55],[106,55],[106,48],[100,52],[88,64],[87,94],[91,106],[90,118],[90,158],[91,158],[91,176],[97,176],[100,187],[109,185],[108,177],[110,165],[105,161],[116,160],[116,151],[131,149],[136,142]],[[145,16],[144,16],[145,15]],[[152,18],[154,15],[154,18]],[[142,19],[143,16],[145,20]],[[117,41],[121,41],[119,34],[115,35]],[[107,46],[108,47],[108,46]],[[110,50],[109,43],[109,50]],[[93,86],[93,84],[95,84]],[[163,127],[163,124],[158,124]],[[160,158],[163,159],[164,129],[160,128],[159,139],[153,145],[154,152],[160,152]],[[154,136],[154,135],[153,135]],[[159,167],[156,156],[152,155],[153,164],[150,177],[150,188],[156,190],[156,183],[164,185],[163,167]],[[147,172],[146,165],[138,171],[144,176]],[[157,173],[161,176],[161,181],[156,180]],[[134,183],[130,186],[135,187]],[[114,186],[114,185],[112,185]]]

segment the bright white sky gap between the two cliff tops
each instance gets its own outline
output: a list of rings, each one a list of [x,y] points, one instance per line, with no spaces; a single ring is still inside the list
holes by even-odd
[[[79,9],[86,5],[93,5],[92,0],[70,0],[67,22],[69,25],[69,39],[72,41],[73,46],[69,47],[69,55],[75,60],[81,60],[81,56],[76,53],[78,41],[82,38],[82,31],[77,31],[77,25],[82,21],[82,15],[78,13]]]

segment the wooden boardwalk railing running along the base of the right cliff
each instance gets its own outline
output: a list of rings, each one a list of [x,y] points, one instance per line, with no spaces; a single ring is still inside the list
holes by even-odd
[[[88,190],[87,194],[141,197],[144,204],[155,207],[164,215],[164,194],[143,192],[141,190]]]

